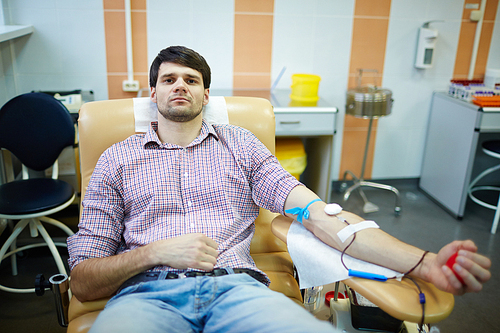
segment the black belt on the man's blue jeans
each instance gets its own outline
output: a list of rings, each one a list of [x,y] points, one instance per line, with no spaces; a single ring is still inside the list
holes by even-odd
[[[233,268],[232,273],[234,274],[248,274],[251,277],[253,277],[255,280],[259,281],[260,283],[267,284],[266,283],[266,278],[259,272],[251,270],[251,269],[246,269],[246,268]],[[229,275],[231,274],[230,269],[225,269],[225,268],[216,268],[213,271],[210,272],[199,272],[199,271],[189,271],[185,273],[173,273],[173,272],[168,272],[163,276],[163,278],[160,277],[162,272],[145,272],[145,273],[139,273],[127,281],[125,281],[120,288],[118,289],[117,293],[119,293],[121,290],[133,286],[135,284],[141,283],[141,282],[149,282],[149,281],[156,281],[160,279],[164,280],[170,280],[170,279],[182,279],[182,278],[187,278],[187,277],[196,277],[196,276],[223,276],[223,275]]]

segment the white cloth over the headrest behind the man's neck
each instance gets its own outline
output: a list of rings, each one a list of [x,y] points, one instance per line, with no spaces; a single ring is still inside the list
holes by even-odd
[[[156,103],[149,97],[134,98],[135,131],[147,132],[149,124],[158,119]],[[203,119],[210,124],[229,124],[226,99],[224,96],[211,96],[203,108]]]

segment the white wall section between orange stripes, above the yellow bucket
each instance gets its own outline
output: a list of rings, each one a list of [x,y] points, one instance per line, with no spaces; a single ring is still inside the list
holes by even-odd
[[[339,108],[332,179],[339,174],[345,93],[349,76],[354,0],[275,0],[272,81],[288,89],[295,73],[321,76],[319,95]]]

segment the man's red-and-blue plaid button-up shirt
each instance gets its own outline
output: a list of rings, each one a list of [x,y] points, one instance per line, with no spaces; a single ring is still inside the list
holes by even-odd
[[[216,267],[259,271],[250,241],[259,206],[283,213],[299,182],[248,130],[203,121],[187,147],[162,144],[157,123],[107,149],[89,182],[79,231],[68,238],[73,269],[187,233],[219,244]],[[182,272],[168,266],[150,271]]]

